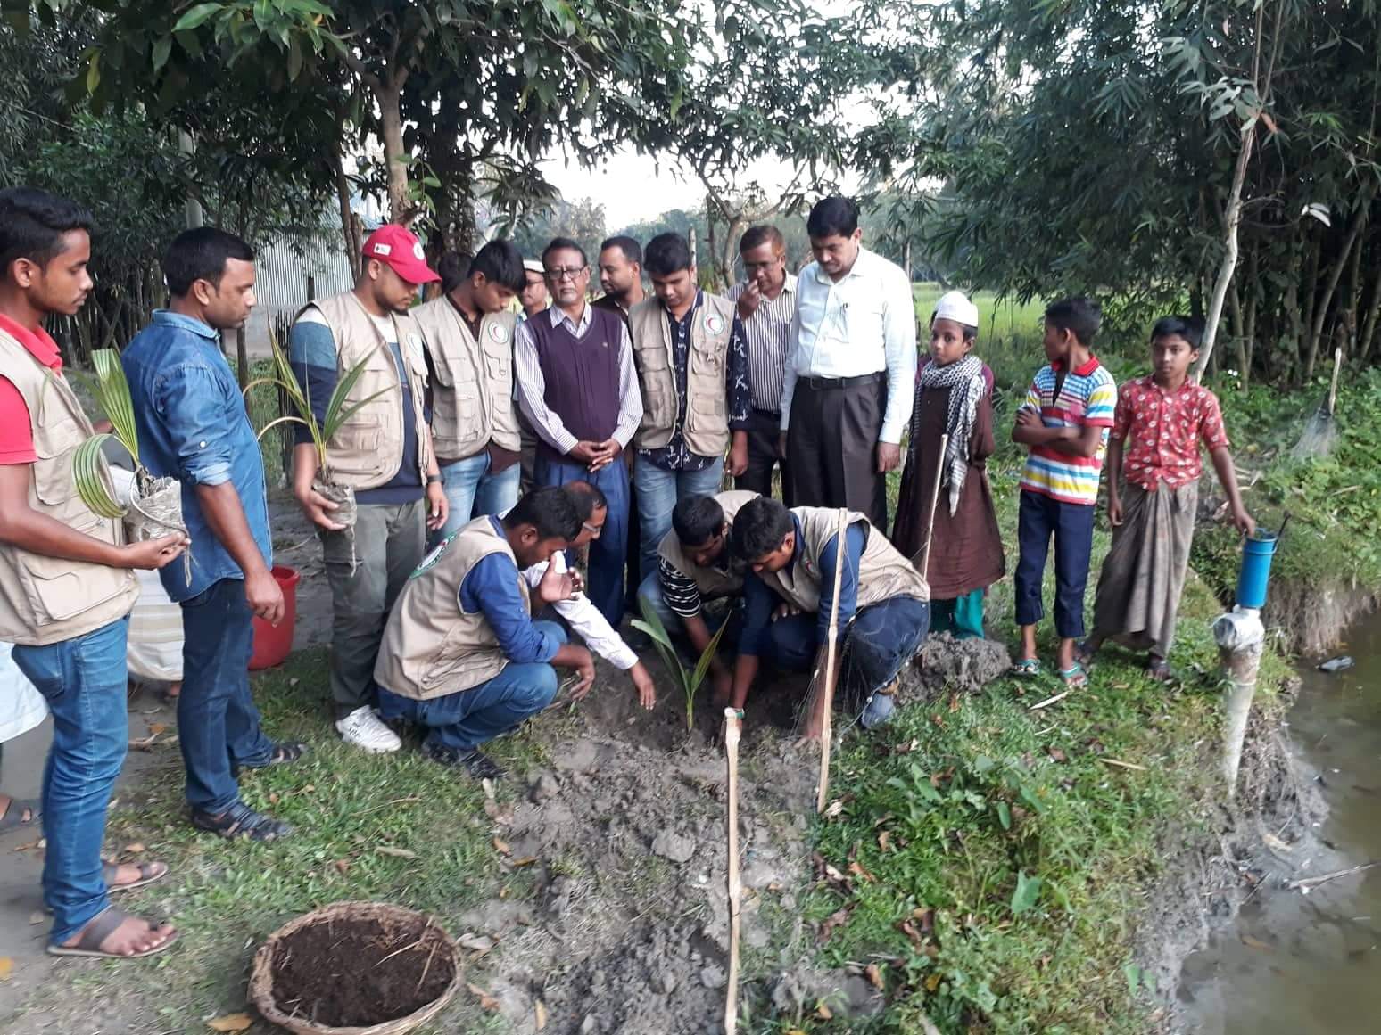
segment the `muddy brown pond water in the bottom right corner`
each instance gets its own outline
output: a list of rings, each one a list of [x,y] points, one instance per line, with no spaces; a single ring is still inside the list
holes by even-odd
[[[1344,651],[1356,667],[1305,669],[1290,713],[1330,807],[1317,832],[1341,857],[1298,860],[1312,875],[1381,860],[1381,615],[1356,627]],[[1185,960],[1179,1002],[1184,1029],[1206,1035],[1381,1032],[1381,867],[1308,896],[1258,894]]]

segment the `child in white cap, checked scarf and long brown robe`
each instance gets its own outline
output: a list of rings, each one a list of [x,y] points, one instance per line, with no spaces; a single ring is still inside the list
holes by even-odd
[[[892,542],[920,563],[934,520],[921,573],[931,585],[931,632],[961,639],[982,638],[983,593],[1005,570],[987,483],[993,371],[972,355],[976,341],[978,306],[963,291],[942,295],[931,316],[929,359],[916,374],[910,448],[892,526]],[[943,435],[949,440],[940,455]]]

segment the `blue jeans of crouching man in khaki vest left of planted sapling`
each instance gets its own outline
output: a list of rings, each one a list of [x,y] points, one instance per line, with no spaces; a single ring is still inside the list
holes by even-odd
[[[555,622],[534,622],[562,643],[566,631]],[[427,727],[427,744],[470,752],[516,729],[557,696],[557,669],[544,662],[510,661],[493,679],[470,690],[414,701],[391,690],[378,690],[378,711],[385,719],[407,719]]]

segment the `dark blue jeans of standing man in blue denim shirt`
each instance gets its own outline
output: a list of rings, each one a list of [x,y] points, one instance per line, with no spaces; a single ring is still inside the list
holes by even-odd
[[[251,620],[242,578],[222,578],[182,602],[178,747],[188,803],[213,814],[239,800],[239,767],[265,766],[273,755],[250,693]]]

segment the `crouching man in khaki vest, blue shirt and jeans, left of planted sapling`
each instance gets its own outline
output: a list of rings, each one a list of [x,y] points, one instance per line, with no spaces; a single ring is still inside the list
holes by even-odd
[[[579,534],[570,497],[537,489],[503,519],[486,515],[461,526],[407,581],[384,631],[374,680],[380,713],[425,726],[423,751],[434,762],[464,766],[476,778],[501,777],[479,747],[551,704],[552,665],[579,672],[572,697],[590,690],[590,651],[566,643],[555,622],[532,620],[533,606],[552,600],[534,604],[519,574]]]

